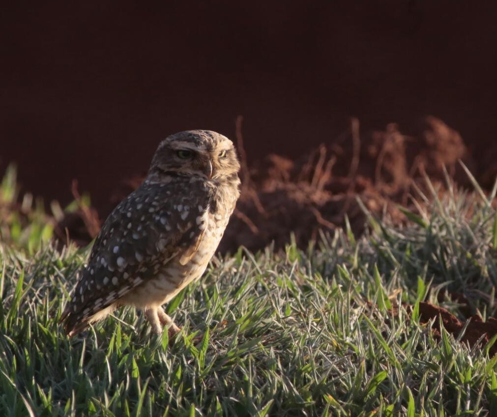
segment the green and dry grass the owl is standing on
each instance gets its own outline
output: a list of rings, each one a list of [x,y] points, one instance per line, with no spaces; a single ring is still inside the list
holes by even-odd
[[[495,416],[489,346],[436,341],[415,312],[461,317],[437,301],[449,288],[496,315],[495,190],[480,191],[433,190],[404,227],[371,217],[362,237],[215,259],[167,306],[185,329],[172,347],[132,309],[68,339],[58,319],[88,248],[3,242],[0,415]]]

